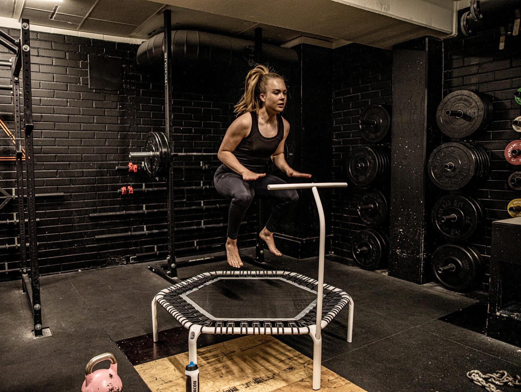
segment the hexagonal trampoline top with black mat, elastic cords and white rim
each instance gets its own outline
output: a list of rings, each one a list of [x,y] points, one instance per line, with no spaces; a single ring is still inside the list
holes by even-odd
[[[155,299],[186,328],[213,334],[308,334],[318,281],[288,271],[215,271],[160,291]],[[322,328],[351,300],[324,285]],[[205,328],[207,327],[207,328]]]

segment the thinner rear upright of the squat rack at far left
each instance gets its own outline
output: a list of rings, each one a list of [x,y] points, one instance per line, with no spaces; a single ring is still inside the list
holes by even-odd
[[[16,58],[13,58],[15,64]],[[18,76],[12,76],[13,103],[15,114],[15,142],[16,142],[16,186],[18,195],[18,222],[20,230],[20,271],[27,273],[27,250],[26,250],[26,214],[23,206],[23,151],[22,132],[20,123],[20,83]]]

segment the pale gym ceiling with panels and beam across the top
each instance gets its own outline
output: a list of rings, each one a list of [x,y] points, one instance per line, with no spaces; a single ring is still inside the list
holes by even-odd
[[[351,42],[391,48],[424,35],[455,31],[453,0],[2,0],[0,17],[32,26],[145,40],[162,31],[165,8],[172,28],[214,32],[291,46],[307,40],[338,47]],[[4,23],[5,24],[5,23]],[[302,38],[301,38],[302,37]],[[108,38],[110,39],[110,38]],[[317,41],[315,41],[317,40]]]

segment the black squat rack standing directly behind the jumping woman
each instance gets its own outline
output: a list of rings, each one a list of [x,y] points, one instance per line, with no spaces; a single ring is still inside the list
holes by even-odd
[[[172,283],[179,283],[181,280],[177,277],[177,268],[186,266],[186,265],[195,265],[202,264],[208,262],[214,262],[221,259],[221,256],[211,256],[211,257],[201,257],[196,256],[196,258],[183,258],[182,260],[176,260],[176,249],[175,249],[175,208],[174,208],[174,198],[173,198],[173,190],[175,190],[175,182],[173,179],[175,166],[172,164],[172,157],[176,155],[183,155],[180,153],[173,153],[173,107],[172,107],[172,23],[171,23],[171,11],[166,9],[163,12],[163,21],[165,26],[165,35],[164,35],[164,45],[165,48],[164,56],[165,56],[165,133],[168,139],[168,146],[170,148],[169,151],[169,159],[168,159],[168,180],[167,180],[167,216],[168,216],[168,256],[166,258],[166,263],[159,264],[159,262],[151,262],[148,264],[148,269],[152,272],[158,274],[159,276],[165,278],[166,280]],[[256,63],[260,62],[262,54],[262,29],[255,29],[255,54],[254,60]],[[131,153],[130,157],[144,157],[148,156],[150,153]],[[193,153],[193,155],[215,155],[215,153]],[[263,203],[259,202],[259,228],[258,231],[261,231],[261,218],[264,214],[263,211]],[[276,269],[274,266],[266,263],[264,261],[264,249],[262,240],[256,236],[256,245],[255,245],[255,259],[242,255],[241,256],[244,261],[247,263],[253,264],[255,266],[261,268],[269,268]],[[224,255],[224,260],[226,260],[226,252]]]

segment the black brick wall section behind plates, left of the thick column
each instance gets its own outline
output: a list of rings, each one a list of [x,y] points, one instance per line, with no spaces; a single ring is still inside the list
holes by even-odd
[[[360,134],[358,120],[361,111],[371,104],[391,104],[392,52],[350,44],[333,51],[332,94],[332,181],[347,181],[345,163],[350,151],[358,145],[368,145]],[[389,148],[390,144],[385,144]],[[349,181],[348,181],[349,182]],[[388,195],[388,183],[375,184]],[[367,226],[355,210],[363,188],[349,184],[349,191],[333,192],[332,251],[351,258],[351,237]],[[346,196],[347,194],[347,196]],[[388,234],[388,227],[383,229]]]

